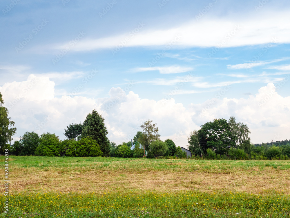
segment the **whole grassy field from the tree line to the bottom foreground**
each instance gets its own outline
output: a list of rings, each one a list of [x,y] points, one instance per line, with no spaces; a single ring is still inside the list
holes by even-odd
[[[290,218],[289,160],[9,156],[9,180],[1,217]]]

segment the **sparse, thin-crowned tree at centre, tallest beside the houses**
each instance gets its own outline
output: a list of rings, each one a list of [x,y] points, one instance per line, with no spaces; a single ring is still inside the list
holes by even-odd
[[[141,128],[143,129],[143,133],[138,140],[145,147],[146,151],[149,151],[151,142],[160,139],[158,127],[156,127],[155,123],[152,124],[152,120],[148,119],[144,124],[141,124]]]

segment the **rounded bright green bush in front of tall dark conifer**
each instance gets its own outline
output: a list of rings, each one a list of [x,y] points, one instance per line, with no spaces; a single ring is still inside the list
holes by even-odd
[[[76,142],[76,156],[77,157],[101,157],[102,151],[96,140],[92,137],[81,138]]]

